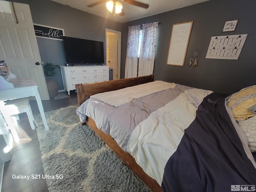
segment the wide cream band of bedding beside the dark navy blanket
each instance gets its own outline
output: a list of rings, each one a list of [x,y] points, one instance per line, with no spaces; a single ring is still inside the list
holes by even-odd
[[[137,164],[161,186],[164,167],[177,150],[184,130],[196,118],[196,110],[212,91],[192,88],[152,112],[133,130],[127,151]]]

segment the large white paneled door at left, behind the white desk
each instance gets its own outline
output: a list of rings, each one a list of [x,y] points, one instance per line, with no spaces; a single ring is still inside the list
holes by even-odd
[[[17,78],[33,77],[41,99],[49,100],[29,5],[14,3],[13,10],[0,1],[0,60]]]

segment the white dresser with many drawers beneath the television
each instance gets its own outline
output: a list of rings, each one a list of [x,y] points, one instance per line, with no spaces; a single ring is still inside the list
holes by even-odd
[[[109,80],[108,66],[60,66],[64,90],[75,90],[76,84],[87,84]]]

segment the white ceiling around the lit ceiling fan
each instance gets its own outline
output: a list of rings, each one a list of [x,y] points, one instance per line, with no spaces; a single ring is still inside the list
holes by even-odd
[[[123,12],[124,15],[119,16],[114,15],[106,9],[106,3],[99,4],[94,6],[93,8],[88,8],[86,5],[101,1],[101,0],[52,0],[54,2],[58,2],[60,4],[68,5],[73,8],[95,14],[104,18],[108,18],[120,23],[136,20],[139,18],[144,18],[147,16],[152,16],[155,14],[167,12],[170,10],[175,10],[178,8],[190,6],[193,4],[198,4],[201,2],[205,2],[208,0],[137,0],[142,3],[149,4],[148,9],[140,8],[137,6],[132,6],[130,4],[126,4],[119,0],[123,4]],[[106,0],[107,2],[107,0]]]

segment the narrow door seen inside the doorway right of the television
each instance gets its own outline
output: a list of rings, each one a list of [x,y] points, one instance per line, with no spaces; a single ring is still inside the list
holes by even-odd
[[[108,35],[108,66],[113,69],[113,80],[117,79],[117,34]]]

